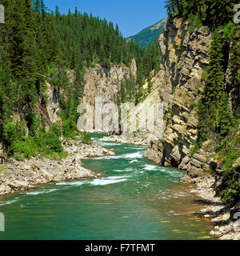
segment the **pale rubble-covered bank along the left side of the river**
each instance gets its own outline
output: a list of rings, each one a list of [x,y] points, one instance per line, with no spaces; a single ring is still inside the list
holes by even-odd
[[[26,162],[18,162],[10,158],[0,165],[0,195],[29,190],[40,184],[58,182],[77,178],[98,178],[95,174],[81,166],[82,159],[114,155],[112,150],[92,142],[90,145],[80,141],[62,140],[68,156],[61,160],[49,158],[31,158]]]

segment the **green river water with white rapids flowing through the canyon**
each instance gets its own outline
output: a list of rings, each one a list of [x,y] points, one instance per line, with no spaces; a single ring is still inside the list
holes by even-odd
[[[101,135],[94,135],[95,139]],[[56,182],[0,198],[0,239],[210,239],[182,171],[142,158],[146,147],[99,142],[115,157],[85,160],[102,178]]]

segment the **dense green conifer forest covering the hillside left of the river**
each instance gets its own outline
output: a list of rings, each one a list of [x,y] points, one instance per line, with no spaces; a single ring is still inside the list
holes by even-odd
[[[77,8],[74,14],[60,14],[58,7],[50,13],[39,0],[1,3],[6,22],[0,25],[0,137],[7,153],[15,158],[30,158],[37,152],[64,154],[59,136],[74,137],[77,132],[85,68],[97,63],[129,66],[135,58],[137,79],[122,82],[121,102],[138,102],[145,79],[152,70],[158,72],[161,54],[157,41],[142,50],[123,38],[112,22],[80,14]],[[73,83],[67,70],[74,70]],[[47,104],[46,82],[61,91],[62,125],[56,123],[49,131],[36,114],[36,107],[44,109]],[[14,121],[16,113],[22,116],[21,122]],[[82,136],[88,140],[89,136]]]

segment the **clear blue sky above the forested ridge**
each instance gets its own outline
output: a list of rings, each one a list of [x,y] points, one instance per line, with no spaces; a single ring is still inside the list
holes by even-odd
[[[124,37],[137,34],[147,26],[166,18],[165,0],[45,0],[50,10],[59,6],[60,13],[74,12],[75,6],[81,13],[92,13],[118,23]]]

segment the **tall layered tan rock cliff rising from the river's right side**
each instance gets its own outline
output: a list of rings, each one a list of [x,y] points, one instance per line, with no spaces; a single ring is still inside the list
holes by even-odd
[[[159,38],[162,78],[152,94],[163,102],[164,130],[161,139],[150,142],[145,156],[163,166],[188,170],[194,177],[207,168],[205,155],[192,157],[190,150],[198,134],[196,106],[204,87],[202,72],[208,64],[211,35],[207,27],[192,33],[188,28],[181,18],[170,19]]]

